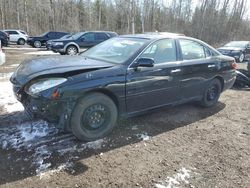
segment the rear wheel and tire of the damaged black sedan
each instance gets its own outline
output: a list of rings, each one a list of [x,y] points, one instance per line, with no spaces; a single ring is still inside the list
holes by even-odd
[[[218,79],[213,79],[204,91],[200,105],[203,107],[212,107],[217,104],[222,91],[221,82]]]

